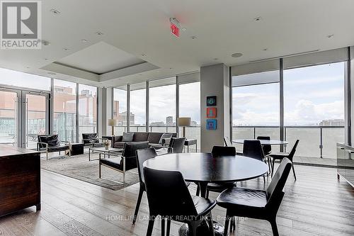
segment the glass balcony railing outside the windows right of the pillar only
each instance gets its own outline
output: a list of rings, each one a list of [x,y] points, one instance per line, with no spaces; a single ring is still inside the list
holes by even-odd
[[[336,158],[336,143],[344,142],[344,126],[285,126],[285,140],[289,142],[286,150],[290,151],[297,139],[297,156]],[[233,139],[254,139],[257,136],[270,136],[271,139],[280,138],[279,126],[233,126]],[[242,150],[241,145],[235,145]],[[276,152],[280,147],[273,147]]]

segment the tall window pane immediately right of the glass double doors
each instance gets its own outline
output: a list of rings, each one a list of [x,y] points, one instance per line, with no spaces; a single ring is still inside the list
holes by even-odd
[[[76,142],[76,84],[54,80],[54,130],[59,140]]]

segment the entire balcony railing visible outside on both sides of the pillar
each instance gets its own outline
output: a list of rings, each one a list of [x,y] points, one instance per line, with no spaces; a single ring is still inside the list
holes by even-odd
[[[145,126],[130,126],[132,132],[145,132]],[[115,135],[127,132],[126,126],[115,126]],[[176,132],[176,126],[149,126],[149,132]],[[179,129],[182,134],[182,128]],[[233,126],[232,138],[255,139],[257,136],[270,136],[271,139],[280,139],[279,126]],[[200,148],[200,126],[185,128],[185,137],[195,138]],[[297,139],[300,140],[297,147],[297,156],[336,158],[336,142],[344,142],[344,126],[285,126],[284,137],[289,144],[285,151],[290,151]],[[237,150],[242,150],[241,145],[235,145]],[[274,152],[279,152],[280,147],[273,146]],[[190,150],[195,151],[195,147]]]

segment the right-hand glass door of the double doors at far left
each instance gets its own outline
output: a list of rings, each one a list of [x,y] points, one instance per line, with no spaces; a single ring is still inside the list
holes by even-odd
[[[49,131],[49,94],[22,92],[22,147],[37,148],[38,135]]]

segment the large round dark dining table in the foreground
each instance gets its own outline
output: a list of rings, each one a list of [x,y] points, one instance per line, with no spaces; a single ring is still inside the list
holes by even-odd
[[[250,157],[212,157],[211,153],[173,153],[148,159],[144,167],[181,172],[185,181],[198,182],[200,196],[205,198],[207,183],[244,181],[263,176],[268,165]]]

